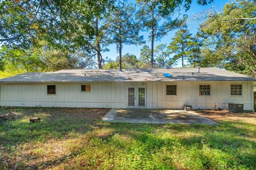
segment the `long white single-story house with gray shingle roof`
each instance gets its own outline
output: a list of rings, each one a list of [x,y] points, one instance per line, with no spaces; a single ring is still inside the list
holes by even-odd
[[[0,80],[0,106],[253,110],[253,81],[215,67],[24,73]]]

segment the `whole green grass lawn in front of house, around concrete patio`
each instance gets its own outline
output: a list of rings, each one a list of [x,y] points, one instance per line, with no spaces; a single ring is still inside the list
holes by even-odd
[[[0,169],[255,169],[256,114],[219,125],[106,123],[109,109],[0,108]],[[29,123],[29,117],[41,117]]]

